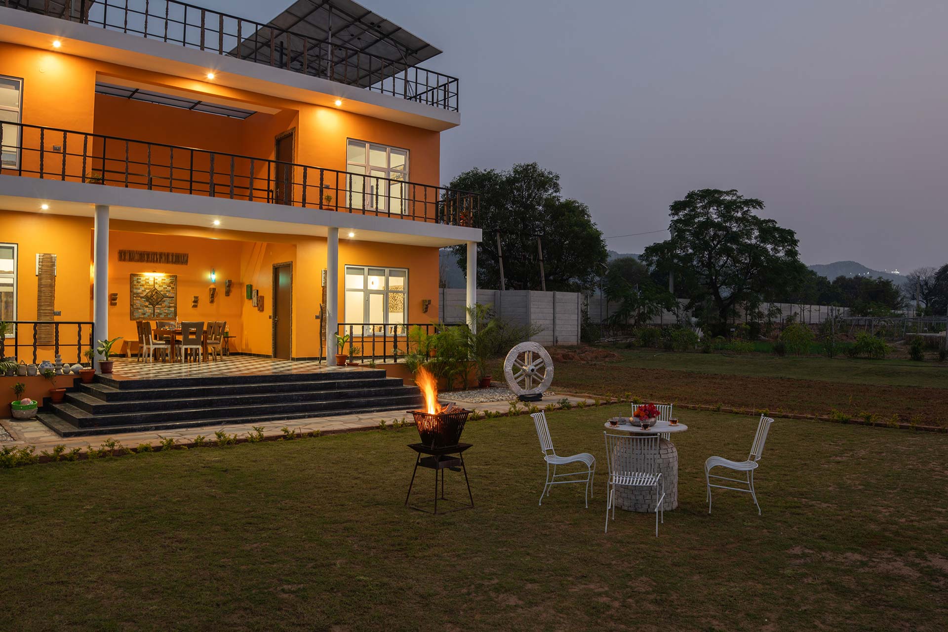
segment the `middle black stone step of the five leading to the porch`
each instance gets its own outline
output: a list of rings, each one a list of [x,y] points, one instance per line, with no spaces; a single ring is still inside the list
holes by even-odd
[[[67,393],[65,403],[76,406],[91,415],[108,415],[119,413],[140,413],[154,410],[170,412],[186,408],[221,408],[227,406],[282,406],[283,404],[298,402],[327,402],[333,400],[377,399],[379,397],[394,397],[410,395],[418,392],[417,388],[401,386],[401,380],[395,380],[398,386],[381,386],[376,384],[371,388],[346,388],[344,390],[320,389],[301,390],[291,392],[263,392],[243,393],[240,395],[205,395],[202,392],[191,392],[189,397],[155,398],[135,401],[106,401],[85,392]],[[209,390],[205,388],[203,390]],[[137,392],[137,391],[130,391]]]

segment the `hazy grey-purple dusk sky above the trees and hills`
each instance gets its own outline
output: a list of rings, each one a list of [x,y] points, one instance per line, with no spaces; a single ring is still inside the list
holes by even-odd
[[[206,4],[265,21],[290,3]],[[804,262],[948,262],[948,3],[363,4],[461,80],[443,183],[537,161],[606,236],[664,228],[688,190],[738,189],[796,231]]]

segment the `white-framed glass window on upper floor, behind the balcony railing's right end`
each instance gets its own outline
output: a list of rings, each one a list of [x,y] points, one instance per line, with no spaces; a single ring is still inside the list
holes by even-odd
[[[407,150],[350,138],[346,143],[346,171],[352,175],[347,178],[345,206],[398,215],[408,212]]]

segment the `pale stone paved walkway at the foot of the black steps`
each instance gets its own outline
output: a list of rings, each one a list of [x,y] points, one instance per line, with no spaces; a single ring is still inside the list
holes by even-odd
[[[445,394],[447,400],[447,393]],[[562,395],[547,395],[537,405],[540,407],[547,404],[556,404],[563,399]],[[567,397],[571,402],[584,401],[582,397]],[[589,400],[585,400],[589,401]],[[494,412],[506,412],[510,407],[507,401],[502,402],[483,402],[474,406],[472,409],[481,412],[491,410]],[[4,442],[3,445],[35,445],[36,451],[50,450],[53,446],[63,444],[66,448],[76,446],[85,447],[92,444],[93,447],[99,447],[103,441],[108,438],[122,442],[126,447],[137,447],[139,443],[150,443],[157,445],[162,437],[173,437],[176,442],[188,444],[194,441],[198,435],[205,436],[209,441],[213,441],[214,432],[222,430],[228,434],[236,434],[238,438],[246,437],[246,434],[252,430],[252,426],[259,425],[264,428],[264,437],[281,437],[283,426],[294,428],[302,433],[319,430],[323,434],[335,432],[350,432],[354,430],[370,430],[377,428],[381,420],[386,420],[389,424],[395,419],[406,417],[410,421],[410,415],[399,413],[397,410],[385,412],[374,412],[366,414],[336,415],[333,417],[315,417],[312,419],[290,419],[276,422],[260,422],[257,424],[232,424],[232,425],[204,425],[197,428],[183,428],[181,430],[166,430],[155,432],[126,432],[116,434],[95,435],[91,437],[70,437],[64,438],[46,427],[41,422],[32,420],[21,422],[12,419],[0,419],[0,426],[6,429],[12,436],[12,442]]]

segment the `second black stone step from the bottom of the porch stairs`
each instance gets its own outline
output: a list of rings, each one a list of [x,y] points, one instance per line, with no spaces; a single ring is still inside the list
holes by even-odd
[[[140,425],[154,424],[157,421],[173,417],[182,422],[214,419],[217,417],[259,417],[272,419],[273,415],[292,414],[292,413],[317,413],[335,411],[339,414],[349,412],[360,406],[387,405],[391,402],[413,403],[420,401],[417,393],[399,394],[395,396],[376,396],[374,399],[367,399],[354,391],[349,397],[337,397],[322,402],[285,402],[281,404],[263,404],[256,406],[212,406],[212,407],[191,407],[179,408],[175,410],[153,410],[153,411],[132,411],[104,415],[93,415],[88,411],[82,410],[77,406],[68,404],[53,404],[52,412],[64,421],[80,427],[106,426],[106,425]],[[411,404],[407,404],[410,406]]]

